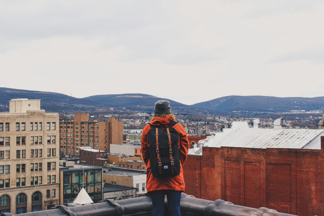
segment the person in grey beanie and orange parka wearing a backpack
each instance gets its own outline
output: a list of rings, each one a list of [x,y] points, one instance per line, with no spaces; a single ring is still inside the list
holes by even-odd
[[[146,189],[152,199],[153,216],[164,215],[167,195],[170,216],[180,215],[181,192],[185,189],[183,169],[189,148],[184,127],[175,121],[170,103],[154,104],[154,116],[143,129],[142,157],[146,164]]]

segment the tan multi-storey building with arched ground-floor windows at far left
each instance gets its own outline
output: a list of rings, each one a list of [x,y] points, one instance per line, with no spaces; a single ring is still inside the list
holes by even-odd
[[[0,213],[59,203],[59,114],[40,100],[12,99],[0,113]]]

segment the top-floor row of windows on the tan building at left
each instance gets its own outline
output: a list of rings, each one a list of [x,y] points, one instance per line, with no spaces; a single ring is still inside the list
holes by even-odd
[[[29,123],[29,131],[41,131],[42,130],[42,122],[30,122]],[[46,130],[55,131],[56,129],[56,122],[52,122],[52,127],[51,127],[51,122],[46,123]],[[10,123],[9,122],[0,122],[0,131],[10,131]],[[26,122],[16,122],[16,131],[26,131]]]

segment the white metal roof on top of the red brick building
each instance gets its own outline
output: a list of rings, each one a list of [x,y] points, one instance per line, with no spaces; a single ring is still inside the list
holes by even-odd
[[[199,143],[209,147],[320,149],[320,136],[324,130],[249,128],[247,122],[240,122]]]

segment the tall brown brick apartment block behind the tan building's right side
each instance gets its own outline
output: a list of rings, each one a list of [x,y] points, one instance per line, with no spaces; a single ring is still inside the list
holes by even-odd
[[[89,121],[89,114],[75,113],[73,121],[60,121],[60,151],[80,154],[80,147],[109,151],[109,144],[123,142],[123,122],[115,118],[109,121]]]

